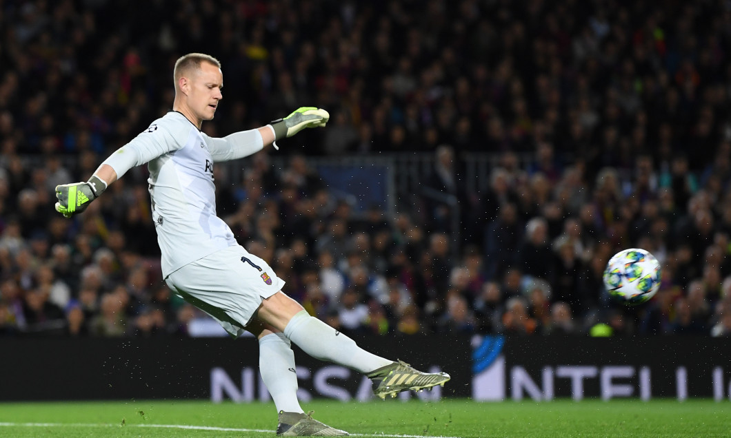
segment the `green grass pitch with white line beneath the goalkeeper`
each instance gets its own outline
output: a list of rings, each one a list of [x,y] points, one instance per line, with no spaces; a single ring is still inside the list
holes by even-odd
[[[355,437],[731,437],[731,403],[311,401]],[[0,437],[274,437],[273,404],[209,401],[0,403]]]

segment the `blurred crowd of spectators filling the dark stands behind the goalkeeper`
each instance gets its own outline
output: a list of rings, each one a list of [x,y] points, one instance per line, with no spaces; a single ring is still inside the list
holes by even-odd
[[[53,212],[57,184],[170,110],[194,51],[224,72],[209,135],[330,111],[281,142],[287,166],[257,153],[216,184],[238,241],[332,326],[731,334],[728,1],[0,0],[0,335],[188,336],[202,317],[160,278],[144,166]],[[395,215],[355,212],[308,163],[391,152],[434,163]],[[496,157],[487,189],[466,152]],[[626,247],[663,266],[640,307],[602,285]]]

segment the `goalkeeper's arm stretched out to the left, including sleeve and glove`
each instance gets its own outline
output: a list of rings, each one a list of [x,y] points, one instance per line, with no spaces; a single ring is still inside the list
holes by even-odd
[[[170,134],[152,125],[110,155],[86,183],[56,186],[56,211],[67,218],[83,212],[111,184],[132,167],[140,166],[154,158],[169,153],[177,146]]]

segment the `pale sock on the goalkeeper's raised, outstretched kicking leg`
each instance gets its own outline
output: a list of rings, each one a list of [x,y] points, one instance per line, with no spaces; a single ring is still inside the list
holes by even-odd
[[[358,347],[353,339],[341,334],[306,310],[293,316],[284,334],[305,353],[322,361],[335,362],[350,369],[368,374],[393,361],[368,353]]]

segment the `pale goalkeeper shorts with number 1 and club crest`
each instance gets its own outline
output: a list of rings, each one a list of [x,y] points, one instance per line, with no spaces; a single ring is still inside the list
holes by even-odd
[[[262,299],[284,286],[267,262],[240,245],[186,264],[168,275],[165,283],[211,315],[233,337],[243,334]]]

